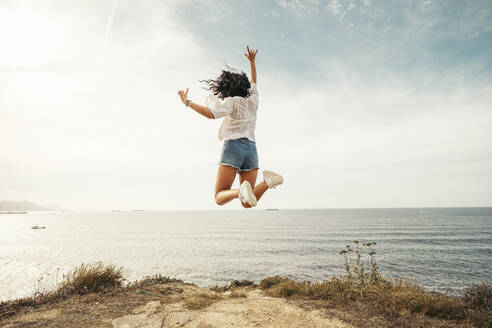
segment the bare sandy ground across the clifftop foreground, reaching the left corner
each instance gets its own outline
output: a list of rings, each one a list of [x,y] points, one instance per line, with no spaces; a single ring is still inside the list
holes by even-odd
[[[351,325],[319,309],[272,298],[254,287],[216,293],[193,285],[166,283],[112,294],[72,296],[26,309],[0,327],[222,328]]]

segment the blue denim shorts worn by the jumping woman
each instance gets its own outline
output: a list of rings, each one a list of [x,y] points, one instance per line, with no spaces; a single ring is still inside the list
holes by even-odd
[[[248,138],[225,140],[219,164],[233,166],[239,172],[257,169],[256,143]]]

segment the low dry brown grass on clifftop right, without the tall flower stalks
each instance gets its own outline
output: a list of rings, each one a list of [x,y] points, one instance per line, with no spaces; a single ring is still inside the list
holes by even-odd
[[[387,282],[354,288],[353,283],[344,278],[313,283],[269,277],[260,286],[270,296],[324,301],[323,306],[343,310],[357,308],[360,312],[363,309],[359,316],[383,317],[389,327],[398,326],[402,320],[408,327],[419,327],[425,321],[422,316],[492,327],[490,298],[487,301],[489,306],[477,307],[465,297],[434,295],[412,284]],[[491,286],[481,288],[492,290]],[[415,318],[413,323],[418,319],[418,325],[412,325],[412,316]]]

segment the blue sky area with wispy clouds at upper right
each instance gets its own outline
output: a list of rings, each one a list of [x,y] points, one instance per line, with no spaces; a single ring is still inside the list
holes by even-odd
[[[368,79],[435,75],[415,87],[450,74],[472,83],[491,78],[490,1],[194,1],[174,9],[180,24],[224,58],[249,43],[261,49],[264,69],[300,79],[330,79],[330,63]]]

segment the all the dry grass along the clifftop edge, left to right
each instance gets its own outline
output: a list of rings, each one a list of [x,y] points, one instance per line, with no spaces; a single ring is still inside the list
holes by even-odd
[[[358,241],[340,252],[345,258],[346,275],[322,282],[298,282],[286,277],[263,279],[259,287],[265,293],[301,301],[335,311],[334,315],[357,327],[483,327],[492,328],[492,286],[487,283],[465,288],[462,296],[433,294],[410,280],[390,280],[381,276],[375,259],[376,243],[363,244],[368,249],[369,267],[364,267]],[[82,264],[53,291],[36,292],[31,297],[0,302],[0,320],[15,315],[23,308],[58,302],[72,294],[100,293],[116,290],[139,291],[145,286],[181,282],[161,275],[147,276],[122,287],[121,268],[101,262]],[[190,296],[184,306],[203,309],[225,299],[218,292],[232,290],[228,297],[245,298],[241,291],[254,285],[248,280],[233,281]],[[238,289],[239,288],[239,289]],[[238,290],[236,290],[238,289]],[[142,292],[144,292],[142,290]],[[148,291],[146,291],[149,293]],[[166,289],[160,294],[180,293],[182,289]]]

